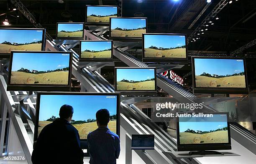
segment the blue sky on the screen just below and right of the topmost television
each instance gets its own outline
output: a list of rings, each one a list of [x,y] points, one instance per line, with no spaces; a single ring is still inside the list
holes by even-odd
[[[128,19],[128,18],[112,18],[111,19],[111,29],[126,28],[126,29],[137,29],[146,27],[145,19]]]

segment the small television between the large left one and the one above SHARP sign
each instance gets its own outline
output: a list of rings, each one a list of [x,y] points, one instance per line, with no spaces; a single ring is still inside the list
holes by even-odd
[[[81,40],[79,61],[112,60],[113,40]]]

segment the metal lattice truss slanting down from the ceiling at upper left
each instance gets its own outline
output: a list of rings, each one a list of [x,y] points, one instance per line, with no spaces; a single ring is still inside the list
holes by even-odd
[[[13,5],[15,7],[17,7],[17,9],[26,17],[28,18],[28,20],[33,23],[33,25],[36,28],[44,28],[40,23],[36,22],[36,18],[31,14],[31,12],[28,11],[27,7],[25,5],[23,5],[23,3],[20,0],[10,0],[10,2],[13,3]],[[49,33],[46,32],[46,39],[48,40],[53,40],[53,38],[51,37],[51,35],[49,35]]]

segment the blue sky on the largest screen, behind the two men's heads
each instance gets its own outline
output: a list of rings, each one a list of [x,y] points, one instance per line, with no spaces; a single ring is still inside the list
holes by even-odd
[[[116,98],[106,98],[104,95],[41,95],[39,120],[45,121],[51,116],[59,117],[59,109],[68,104],[74,108],[75,121],[96,119],[99,109],[108,109],[110,115],[116,114]]]

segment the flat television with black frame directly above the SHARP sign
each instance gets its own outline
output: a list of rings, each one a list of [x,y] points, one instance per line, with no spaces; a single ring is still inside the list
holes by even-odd
[[[187,62],[187,35],[142,34],[143,62]]]

